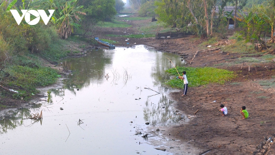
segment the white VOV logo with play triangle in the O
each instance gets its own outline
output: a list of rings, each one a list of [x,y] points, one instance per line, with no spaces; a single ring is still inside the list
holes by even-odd
[[[10,10],[10,11],[11,11],[13,18],[15,19],[15,21],[17,22],[18,25],[21,23],[21,21],[24,17],[25,17],[25,21],[29,25],[37,24],[40,20],[40,17],[42,18],[45,25],[47,25],[47,23],[51,19],[52,15],[53,15],[53,12],[54,12],[54,10],[48,10],[50,15],[47,16],[47,14],[44,10],[37,10],[37,11],[36,10],[21,10],[22,16],[20,16],[17,10]],[[32,21],[31,21],[31,14],[36,17]]]

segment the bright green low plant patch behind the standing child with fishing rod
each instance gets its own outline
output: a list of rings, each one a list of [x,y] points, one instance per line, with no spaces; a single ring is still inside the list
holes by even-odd
[[[177,72],[178,70],[178,72]],[[225,82],[230,81],[236,77],[233,71],[217,69],[213,67],[202,67],[202,68],[193,68],[193,67],[177,67],[166,70],[169,74],[175,76],[174,79],[168,80],[167,85],[182,88],[183,81],[177,79],[178,73],[182,76],[183,71],[186,71],[188,87],[197,87],[200,85],[207,85],[209,83],[218,83],[223,85]]]

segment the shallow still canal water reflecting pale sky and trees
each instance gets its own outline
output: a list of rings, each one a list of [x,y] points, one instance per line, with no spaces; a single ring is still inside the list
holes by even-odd
[[[148,126],[177,123],[182,116],[164,85],[171,78],[165,70],[173,68],[166,57],[184,65],[178,55],[143,45],[91,49],[63,60],[60,65],[72,73],[47,91],[47,102],[2,114],[1,154],[172,154],[142,137]],[[42,121],[28,119],[41,111]]]

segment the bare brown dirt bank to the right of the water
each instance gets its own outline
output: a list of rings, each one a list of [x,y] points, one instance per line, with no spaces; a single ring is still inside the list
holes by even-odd
[[[110,37],[106,37],[104,34],[125,35],[123,32],[134,34],[138,32],[138,26],[146,22],[149,21],[131,22],[129,24],[133,25],[132,28],[101,29],[103,31],[101,37],[109,39]],[[187,96],[184,97],[181,96],[180,90],[171,93],[170,96],[177,101],[174,106],[194,118],[188,124],[183,122],[178,124],[178,127],[169,127],[164,130],[164,137],[179,139],[182,143],[188,142],[190,146],[200,150],[211,150],[207,154],[213,155],[275,154],[273,142],[265,142],[267,140],[265,137],[274,138],[275,136],[275,107],[273,106],[275,90],[274,87],[268,89],[259,85],[261,80],[274,80],[274,63],[256,64],[253,65],[256,67],[251,68],[246,64],[243,66],[242,64],[219,65],[241,57],[239,54],[221,50],[198,52],[194,58],[196,51],[202,49],[197,45],[203,40],[194,39],[193,36],[168,39],[165,43],[164,40],[154,38],[130,39],[129,41],[120,37],[110,39],[118,41],[117,46],[145,44],[159,51],[182,55],[189,63],[188,66],[212,66],[231,70],[238,74],[236,79],[225,85],[210,84],[188,88]],[[220,115],[218,111],[220,104],[224,104],[228,108],[227,116]],[[241,119],[242,106],[246,106],[249,112],[249,118],[246,120]],[[197,110],[198,112],[194,114]],[[198,154],[197,152],[189,153]]]

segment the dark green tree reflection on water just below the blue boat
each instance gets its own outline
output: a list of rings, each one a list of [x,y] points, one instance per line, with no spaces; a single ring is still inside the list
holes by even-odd
[[[112,63],[113,52],[106,49],[92,49],[87,52],[88,56],[68,58],[62,66],[73,71],[64,80],[64,88],[75,93],[75,88],[88,87],[90,84],[102,83],[105,79],[105,67]]]

